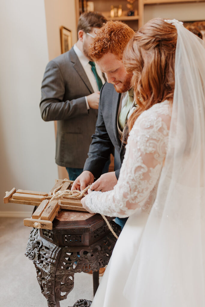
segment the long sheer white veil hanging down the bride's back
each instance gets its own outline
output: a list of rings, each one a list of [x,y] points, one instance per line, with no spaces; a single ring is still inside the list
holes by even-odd
[[[135,307],[205,306],[205,45],[179,21],[168,150],[124,295]],[[126,268],[125,268],[126,269]]]

